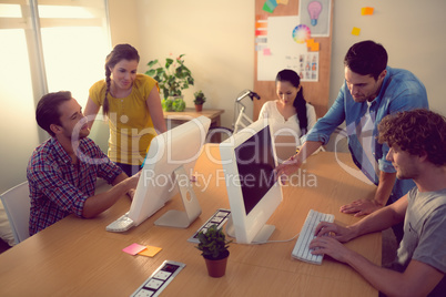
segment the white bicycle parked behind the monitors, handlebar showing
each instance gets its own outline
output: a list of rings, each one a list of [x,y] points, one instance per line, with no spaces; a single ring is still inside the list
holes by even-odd
[[[232,129],[225,126],[213,126],[209,129],[206,135],[206,143],[214,142],[220,143],[231,137],[232,134],[237,133],[241,129],[249,126],[253,123],[253,120],[245,114],[246,106],[242,103],[242,100],[250,98],[254,101],[254,98],[260,100],[260,95],[251,90],[243,90],[234,102],[234,117],[232,122]]]

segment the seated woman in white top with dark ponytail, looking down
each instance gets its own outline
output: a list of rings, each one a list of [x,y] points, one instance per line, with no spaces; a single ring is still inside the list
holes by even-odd
[[[286,154],[294,151],[294,155],[295,148],[303,144],[302,137],[316,123],[316,113],[314,107],[306,103],[301,78],[295,71],[288,69],[280,71],[275,79],[275,86],[278,99],[263,104],[259,120],[267,119],[276,142],[276,148],[280,143],[290,144],[292,139],[293,145],[280,146],[291,147]],[[280,155],[278,150],[277,155]]]

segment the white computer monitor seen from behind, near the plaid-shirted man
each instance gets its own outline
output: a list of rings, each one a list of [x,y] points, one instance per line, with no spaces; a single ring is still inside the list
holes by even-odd
[[[155,224],[185,228],[200,216],[201,207],[190,178],[210,124],[209,117],[200,116],[152,140],[128,215],[133,226],[163,207],[178,188],[185,212],[170,211]]]

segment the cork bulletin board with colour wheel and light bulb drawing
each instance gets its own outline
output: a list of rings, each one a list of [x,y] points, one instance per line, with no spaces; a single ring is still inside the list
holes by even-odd
[[[333,0],[255,0],[254,91],[261,100],[254,101],[254,120],[263,103],[276,99],[274,80],[282,69],[301,75],[304,98],[317,117],[327,112],[333,4]]]

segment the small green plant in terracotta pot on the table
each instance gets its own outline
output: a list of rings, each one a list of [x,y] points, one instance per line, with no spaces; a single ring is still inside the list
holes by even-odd
[[[206,232],[200,232],[197,237],[200,244],[195,247],[202,252],[207,274],[211,277],[224,276],[230,256],[227,247],[232,240],[226,240],[224,233],[216,225],[212,225]]]

